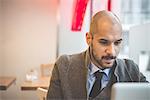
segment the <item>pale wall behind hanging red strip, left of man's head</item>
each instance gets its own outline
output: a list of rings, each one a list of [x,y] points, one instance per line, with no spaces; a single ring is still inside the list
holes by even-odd
[[[74,0],[60,0],[59,55],[78,53],[87,48],[85,33],[89,31],[90,2],[88,2],[82,30],[73,32],[71,31],[72,15],[74,12],[73,1]]]

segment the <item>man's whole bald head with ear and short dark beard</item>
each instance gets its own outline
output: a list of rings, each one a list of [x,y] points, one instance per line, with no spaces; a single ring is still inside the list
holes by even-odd
[[[90,46],[92,62],[102,68],[111,67],[122,42],[122,26],[118,17],[105,10],[96,13],[90,24],[90,32],[86,34],[86,41]]]

